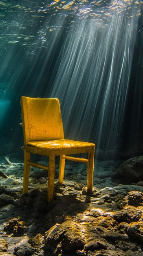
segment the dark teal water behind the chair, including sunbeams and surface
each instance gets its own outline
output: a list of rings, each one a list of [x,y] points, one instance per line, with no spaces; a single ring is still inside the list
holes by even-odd
[[[21,96],[58,97],[65,137],[99,157],[142,154],[142,5],[0,1],[0,155],[21,152]]]

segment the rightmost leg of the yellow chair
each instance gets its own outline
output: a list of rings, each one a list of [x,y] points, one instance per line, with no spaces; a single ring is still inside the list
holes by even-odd
[[[87,188],[92,191],[93,189],[93,171],[94,171],[94,154],[95,148],[91,148],[88,152],[88,171],[87,171]]]

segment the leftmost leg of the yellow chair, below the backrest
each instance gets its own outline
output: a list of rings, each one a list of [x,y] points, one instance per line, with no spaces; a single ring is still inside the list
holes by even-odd
[[[26,152],[26,149],[24,149],[23,194],[25,194],[28,191],[30,165],[27,164],[27,161],[29,160],[30,153]]]

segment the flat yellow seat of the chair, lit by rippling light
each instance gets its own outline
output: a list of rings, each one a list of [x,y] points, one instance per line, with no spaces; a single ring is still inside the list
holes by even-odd
[[[69,139],[56,139],[56,140],[43,140],[43,141],[29,141],[27,146],[33,146],[37,148],[44,148],[50,150],[62,150],[72,148],[88,148],[95,147],[95,144],[83,141],[75,141]]]

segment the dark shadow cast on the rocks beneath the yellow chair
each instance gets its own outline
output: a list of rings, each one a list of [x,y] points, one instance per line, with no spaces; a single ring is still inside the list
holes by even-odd
[[[47,188],[30,189],[22,194],[11,191],[14,200],[1,207],[1,231],[11,236],[35,236],[44,234],[56,223],[77,220],[90,205],[90,195],[67,188],[65,184],[55,184],[54,200],[47,203]],[[7,213],[7,214],[6,214]],[[2,229],[4,227],[4,229]]]

